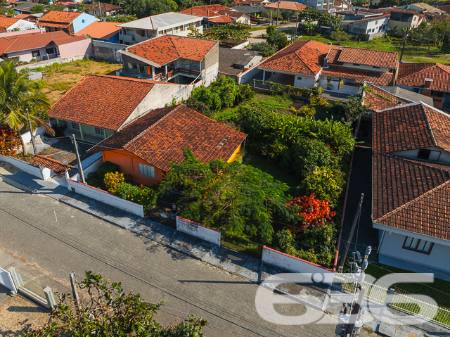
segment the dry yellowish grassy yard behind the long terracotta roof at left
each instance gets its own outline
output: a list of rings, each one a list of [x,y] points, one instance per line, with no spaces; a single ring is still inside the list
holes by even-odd
[[[43,78],[39,82],[42,92],[53,104],[84,75],[115,75],[116,70],[120,69],[122,69],[120,63],[107,63],[86,58],[63,65],[46,67],[42,70]]]

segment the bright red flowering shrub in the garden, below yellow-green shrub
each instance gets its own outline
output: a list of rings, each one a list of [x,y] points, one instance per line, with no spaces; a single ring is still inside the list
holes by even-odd
[[[332,222],[335,216],[335,212],[330,210],[328,199],[316,199],[315,195],[311,193],[310,196],[295,197],[287,203],[294,219],[303,230]]]

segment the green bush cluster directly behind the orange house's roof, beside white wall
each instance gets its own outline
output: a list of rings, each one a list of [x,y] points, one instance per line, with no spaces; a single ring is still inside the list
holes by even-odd
[[[241,86],[236,84],[231,77],[220,76],[209,87],[202,85],[193,89],[191,97],[195,101],[188,100],[186,105],[195,109],[200,102],[213,113],[217,113],[221,108],[231,108],[239,103],[249,101],[253,96],[255,93],[248,85]]]

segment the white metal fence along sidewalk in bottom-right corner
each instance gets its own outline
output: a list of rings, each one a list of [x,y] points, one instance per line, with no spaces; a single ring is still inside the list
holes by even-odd
[[[342,291],[347,293],[352,293],[354,291],[354,284],[351,276],[336,272],[335,277],[342,280]],[[362,282],[361,286],[366,289],[364,298],[367,300],[385,304],[401,312],[405,312],[406,314],[422,317],[423,319],[427,319],[440,326],[450,328],[450,310],[444,307],[427,303],[418,298],[414,298],[411,295],[396,292],[394,292],[392,298],[388,300],[388,294],[390,293],[389,289],[365,281]]]

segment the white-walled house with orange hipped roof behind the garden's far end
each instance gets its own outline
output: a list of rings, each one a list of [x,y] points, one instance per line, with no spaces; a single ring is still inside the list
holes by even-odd
[[[330,49],[328,44],[314,40],[295,42],[259,63],[257,69],[262,70],[263,81],[312,88]]]

